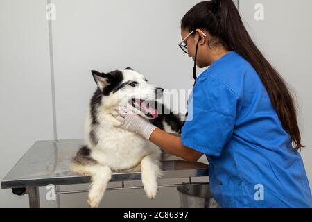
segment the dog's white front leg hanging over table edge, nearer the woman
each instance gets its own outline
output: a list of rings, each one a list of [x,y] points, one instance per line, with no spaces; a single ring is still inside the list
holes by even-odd
[[[146,196],[150,199],[156,197],[158,189],[157,178],[161,176],[160,171],[159,161],[155,160],[152,156],[147,155],[141,161],[142,183]]]

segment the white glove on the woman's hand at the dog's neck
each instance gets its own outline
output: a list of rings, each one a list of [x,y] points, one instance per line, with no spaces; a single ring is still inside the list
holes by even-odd
[[[120,128],[128,130],[132,133],[138,133],[146,139],[150,139],[150,135],[157,128],[152,123],[149,123],[143,117],[134,114],[129,108],[125,106],[119,106],[114,112],[114,117],[123,123]]]

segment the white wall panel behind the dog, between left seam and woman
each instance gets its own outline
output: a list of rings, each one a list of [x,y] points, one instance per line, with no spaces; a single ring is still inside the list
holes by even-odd
[[[83,135],[82,117],[96,87],[91,69],[132,67],[153,85],[192,86],[192,61],[177,46],[180,19],[197,1],[53,0],[58,139]],[[179,77],[179,81],[173,80]],[[166,80],[166,79],[172,80]]]

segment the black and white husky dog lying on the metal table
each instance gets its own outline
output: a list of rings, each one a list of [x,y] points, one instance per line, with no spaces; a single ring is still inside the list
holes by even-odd
[[[150,123],[171,133],[180,130],[180,116],[156,101],[164,89],[149,85],[142,74],[130,67],[107,74],[92,70],[92,75],[97,89],[85,121],[85,145],[71,164],[71,171],[91,176],[89,207],[100,204],[112,171],[141,171],[146,196],[155,198],[162,151],[147,146],[148,140],[141,135],[119,128],[121,123],[115,119],[114,109],[130,104],[141,110]]]

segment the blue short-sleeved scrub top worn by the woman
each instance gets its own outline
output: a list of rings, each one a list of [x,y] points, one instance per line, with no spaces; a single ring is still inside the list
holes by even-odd
[[[198,77],[188,112],[182,144],[207,156],[220,207],[312,207],[302,157],[257,72],[238,53]]]

